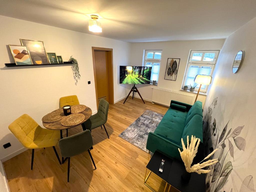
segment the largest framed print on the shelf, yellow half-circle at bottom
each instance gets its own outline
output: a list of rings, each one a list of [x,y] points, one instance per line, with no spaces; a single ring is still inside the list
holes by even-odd
[[[49,63],[43,41],[20,39],[20,42],[22,45],[27,46],[34,65]]]

